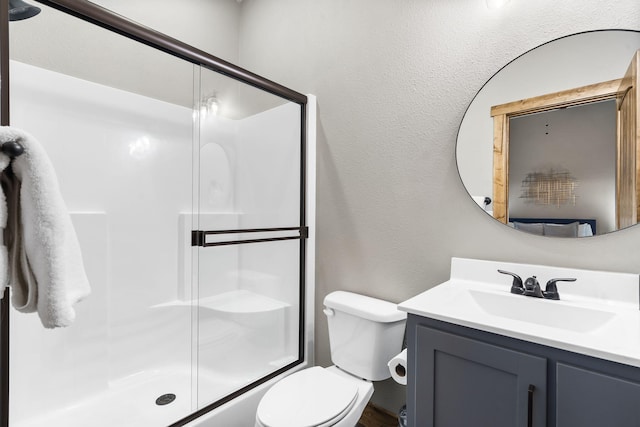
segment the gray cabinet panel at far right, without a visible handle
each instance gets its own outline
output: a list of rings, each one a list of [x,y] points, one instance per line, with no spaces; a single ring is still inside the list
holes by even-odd
[[[640,384],[558,363],[555,406],[556,427],[638,427]]]

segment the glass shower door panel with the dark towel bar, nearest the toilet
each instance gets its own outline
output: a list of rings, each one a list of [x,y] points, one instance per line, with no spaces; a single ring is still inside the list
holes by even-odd
[[[197,407],[302,360],[301,105],[196,71]]]

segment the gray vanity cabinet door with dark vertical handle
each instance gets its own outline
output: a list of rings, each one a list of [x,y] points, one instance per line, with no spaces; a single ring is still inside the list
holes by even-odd
[[[545,358],[424,325],[417,325],[415,333],[415,375],[408,384],[415,419],[409,419],[410,425],[545,427]]]

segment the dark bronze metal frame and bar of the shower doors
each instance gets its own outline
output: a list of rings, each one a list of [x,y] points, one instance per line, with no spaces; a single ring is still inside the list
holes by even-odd
[[[190,46],[180,40],[169,37],[151,28],[140,25],[108,9],[91,3],[87,0],[35,0],[46,6],[50,6],[61,12],[74,16],[83,21],[118,33],[124,37],[135,40],[152,48],[158,49],[172,56],[181,58],[192,64],[202,66],[209,70],[224,74],[232,79],[238,80],[250,86],[256,87],[273,95],[284,98],[288,101],[300,105],[300,224],[298,227],[287,227],[280,231],[299,231],[299,236],[286,238],[276,238],[277,240],[298,239],[300,241],[299,258],[299,303],[300,315],[298,319],[299,345],[298,359],[271,374],[258,379],[238,391],[224,397],[221,400],[189,414],[187,417],[171,424],[168,427],[183,426],[213,409],[233,400],[243,393],[263,384],[270,379],[286,372],[287,370],[301,364],[305,360],[305,290],[306,290],[306,240],[308,238],[308,227],[306,220],[306,158],[307,158],[307,96],[292,89],[282,86],[274,81],[265,79],[255,73],[238,67],[232,63],[217,58],[207,52]],[[0,0],[0,125],[9,126],[9,0]],[[207,234],[218,233],[250,233],[260,231],[275,231],[275,229],[254,229],[254,230],[224,230],[224,231],[200,231],[192,232],[192,245],[194,246],[214,246],[207,244]],[[273,239],[252,239],[236,241],[231,243],[258,243],[260,241],[272,241]],[[225,243],[229,244],[229,243]],[[5,289],[4,296],[0,300],[0,427],[9,427],[9,289]]]

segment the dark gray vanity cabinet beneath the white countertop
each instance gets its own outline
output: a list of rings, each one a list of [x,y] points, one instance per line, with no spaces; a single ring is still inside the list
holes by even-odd
[[[640,369],[409,315],[413,427],[638,427]]]

